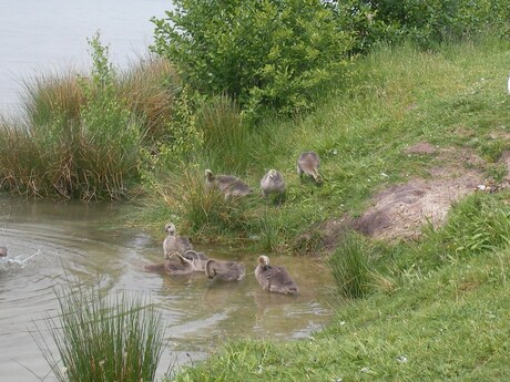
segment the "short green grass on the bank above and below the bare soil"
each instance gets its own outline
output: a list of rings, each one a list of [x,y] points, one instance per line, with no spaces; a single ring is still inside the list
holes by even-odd
[[[507,172],[498,161],[509,147],[509,48],[483,40],[434,52],[378,49],[355,64],[349,92],[303,120],[263,126],[272,140],[263,148],[251,145],[245,175],[255,184],[264,169],[283,169],[288,197],[280,208],[266,209],[256,198],[247,208],[266,211],[258,215],[265,229],[289,245],[316,221],[360,214],[378,189],[448,165],[438,155],[404,153],[418,142],[479,155],[478,169],[500,182]],[[323,158],[322,187],[300,184],[295,174],[297,154],[308,148]],[[449,161],[472,166],[462,157]],[[508,197],[506,190],[471,196],[450,211],[446,227],[425,228],[418,241],[353,239],[334,256],[351,250],[355,260],[368,258],[337,273],[348,279],[364,269],[353,297],[365,298],[343,301],[325,331],[289,343],[234,340],[174,380],[509,379]]]

